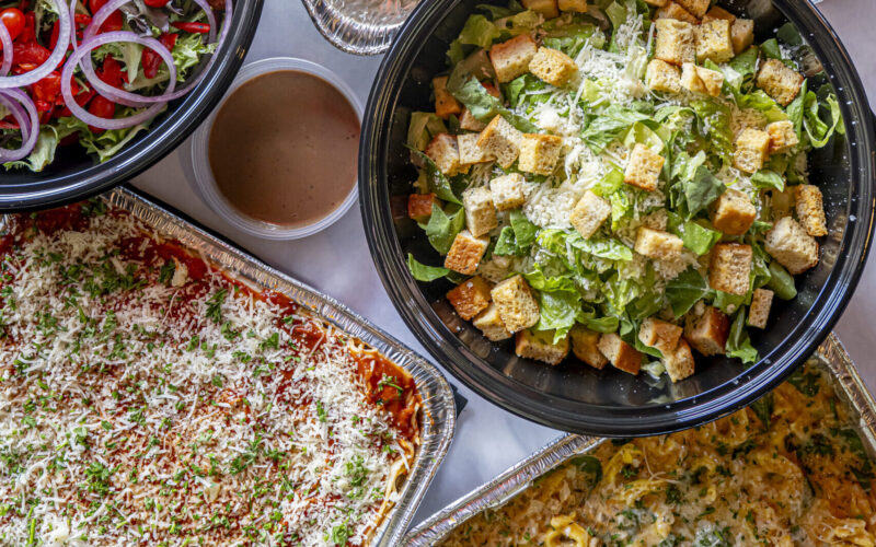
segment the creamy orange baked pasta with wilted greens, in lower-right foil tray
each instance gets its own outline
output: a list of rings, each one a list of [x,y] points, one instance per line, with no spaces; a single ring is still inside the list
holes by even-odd
[[[876,468],[853,423],[807,365],[717,422],[606,441],[442,545],[873,546]]]

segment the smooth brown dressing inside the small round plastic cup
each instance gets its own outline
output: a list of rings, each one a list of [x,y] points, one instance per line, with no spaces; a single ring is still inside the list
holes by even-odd
[[[301,228],[337,209],[356,184],[359,118],[331,83],[296,70],[256,77],[219,109],[209,160],[240,212]]]

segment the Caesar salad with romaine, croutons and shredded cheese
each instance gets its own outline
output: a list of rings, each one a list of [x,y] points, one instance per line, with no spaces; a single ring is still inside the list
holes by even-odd
[[[407,213],[436,252],[414,278],[552,365],[678,382],[695,354],[759,361],[750,333],[819,263],[807,158],[843,125],[793,25],[756,42],[714,3],[477,5],[411,115]]]

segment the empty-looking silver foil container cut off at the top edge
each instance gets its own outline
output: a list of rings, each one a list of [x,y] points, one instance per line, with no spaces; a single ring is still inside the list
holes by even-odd
[[[316,28],[338,49],[379,55],[419,0],[301,0]]]

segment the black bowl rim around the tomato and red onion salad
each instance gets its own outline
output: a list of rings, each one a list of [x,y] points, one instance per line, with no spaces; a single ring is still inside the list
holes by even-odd
[[[142,173],[171,153],[219,103],[234,80],[255,36],[263,0],[233,0],[231,27],[216,62],[200,83],[152,121],[106,162],[78,146],[59,147],[55,161],[41,173],[25,170],[0,174],[0,211],[45,209],[77,201]]]

